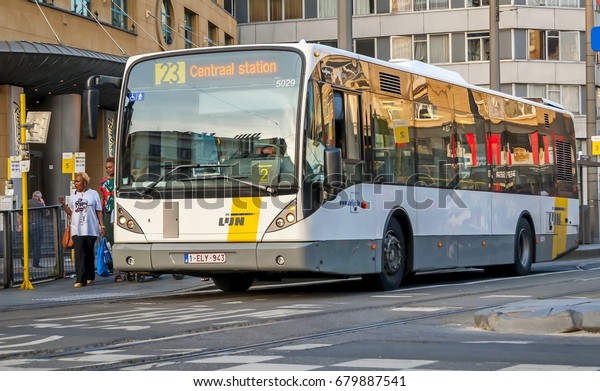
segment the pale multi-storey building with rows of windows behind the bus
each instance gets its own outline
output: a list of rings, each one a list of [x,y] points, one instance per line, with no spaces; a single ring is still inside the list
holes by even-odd
[[[235,0],[240,43],[304,39],[337,46],[337,3]],[[352,0],[351,4],[353,51],[386,61],[424,61],[456,71],[469,83],[490,86],[489,0]],[[591,155],[586,123],[586,0],[498,0],[498,4],[500,90],[545,98],[571,111],[578,150]],[[595,73],[595,80],[600,80],[597,66]],[[595,91],[591,99],[596,112],[591,115],[597,129],[600,100],[597,87]],[[584,171],[582,177],[587,176]],[[584,204],[594,200],[590,206],[596,210],[594,181],[596,185],[589,186],[594,194],[587,194],[586,180],[582,188]],[[594,219],[598,221],[597,216]],[[593,231],[598,240],[598,227]]]

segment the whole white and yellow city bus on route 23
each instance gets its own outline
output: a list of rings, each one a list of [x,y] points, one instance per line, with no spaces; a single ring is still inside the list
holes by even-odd
[[[116,269],[393,290],[439,269],[524,275],[578,246],[559,108],[305,42],[136,56],[119,83]]]

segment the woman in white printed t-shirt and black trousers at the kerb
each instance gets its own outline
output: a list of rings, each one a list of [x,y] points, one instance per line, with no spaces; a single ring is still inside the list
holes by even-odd
[[[58,202],[71,218],[71,235],[75,245],[75,288],[91,284],[96,276],[94,270],[94,244],[99,235],[104,235],[102,202],[96,190],[88,188],[90,177],[85,172],[75,174],[75,193],[65,203]]]

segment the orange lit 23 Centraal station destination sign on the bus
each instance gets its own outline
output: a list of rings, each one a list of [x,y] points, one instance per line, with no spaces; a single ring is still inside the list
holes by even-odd
[[[217,78],[231,76],[256,76],[276,74],[276,61],[240,61],[227,63],[195,64],[186,61],[154,64],[154,82],[161,84],[184,84],[186,79]]]

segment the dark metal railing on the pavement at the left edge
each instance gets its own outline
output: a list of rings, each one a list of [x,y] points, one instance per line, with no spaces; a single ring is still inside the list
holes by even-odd
[[[9,288],[24,280],[23,232],[18,230],[22,213],[21,209],[0,211],[0,288]],[[61,245],[64,216],[59,206],[28,209],[31,282],[75,273],[72,252]]]

